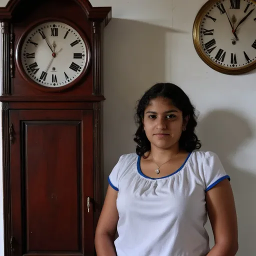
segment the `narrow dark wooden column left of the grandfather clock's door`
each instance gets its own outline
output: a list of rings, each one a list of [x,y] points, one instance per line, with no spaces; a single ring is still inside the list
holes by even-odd
[[[4,255],[11,255],[11,209],[10,209],[10,127],[9,104],[2,103],[2,155],[3,155],[3,224],[4,224]]]

